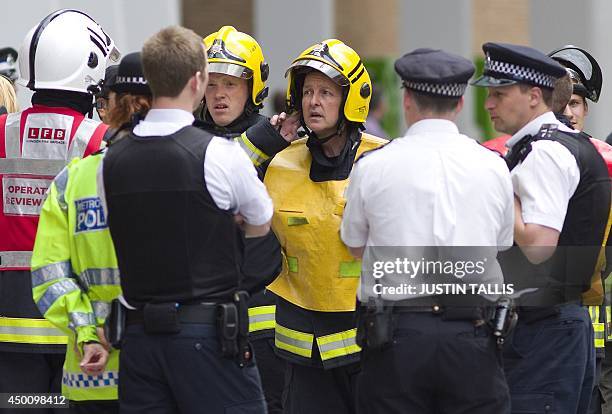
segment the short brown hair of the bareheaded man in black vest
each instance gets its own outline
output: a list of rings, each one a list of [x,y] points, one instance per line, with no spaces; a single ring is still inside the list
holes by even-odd
[[[145,42],[142,68],[154,97],[175,98],[196,72],[206,70],[202,38],[181,26],[166,27]]]

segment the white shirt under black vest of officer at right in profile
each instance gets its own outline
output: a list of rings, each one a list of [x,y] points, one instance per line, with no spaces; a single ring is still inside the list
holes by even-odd
[[[576,132],[559,122],[552,112],[546,112],[521,128],[506,146],[512,148],[527,134],[536,135],[544,124]],[[523,221],[560,232],[569,200],[580,181],[580,170],[571,152],[558,142],[533,142],[531,152],[512,170],[511,177],[514,193],[521,200]]]

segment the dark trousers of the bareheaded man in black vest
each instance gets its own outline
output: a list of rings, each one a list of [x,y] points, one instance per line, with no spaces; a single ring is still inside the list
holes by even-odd
[[[214,325],[181,324],[178,334],[147,334],[129,325],[119,361],[123,414],[263,414],[255,364],[223,358]]]

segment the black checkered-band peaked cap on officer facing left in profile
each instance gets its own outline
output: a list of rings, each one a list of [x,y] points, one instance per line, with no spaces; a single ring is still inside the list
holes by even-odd
[[[474,86],[507,86],[523,83],[553,89],[566,71],[557,61],[528,46],[509,43],[485,43],[483,75]]]

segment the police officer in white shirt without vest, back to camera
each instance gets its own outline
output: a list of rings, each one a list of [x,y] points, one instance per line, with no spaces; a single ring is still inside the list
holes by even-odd
[[[358,160],[341,228],[353,254],[368,250],[359,301],[375,301],[382,312],[358,328],[365,336],[358,412],[508,413],[508,387],[485,324],[486,302],[476,296],[459,307],[444,295],[421,292],[427,285],[414,283],[418,278],[398,272],[374,284],[376,275],[367,270],[372,249],[382,248],[377,257],[386,257],[389,248],[394,257],[403,251],[420,259],[424,246],[490,246],[491,279],[467,280],[501,286],[495,246],[512,244],[508,170],[455,125],[472,63],[442,50],[417,49],[398,59],[395,70],[404,87],[408,130]],[[403,284],[412,284],[414,293],[381,293],[383,286]],[[386,337],[377,338],[372,327]]]

